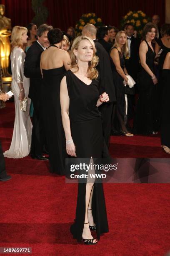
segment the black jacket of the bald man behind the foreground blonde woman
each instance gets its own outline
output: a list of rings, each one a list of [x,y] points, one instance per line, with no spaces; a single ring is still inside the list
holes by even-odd
[[[96,55],[99,57],[99,63],[96,67],[97,71],[99,72],[99,77],[97,78],[97,80],[99,79],[100,81],[99,92],[100,94],[107,92],[110,98],[109,102],[115,102],[115,86],[113,83],[110,58],[107,54],[107,51],[97,40],[94,40],[94,43],[96,47]]]

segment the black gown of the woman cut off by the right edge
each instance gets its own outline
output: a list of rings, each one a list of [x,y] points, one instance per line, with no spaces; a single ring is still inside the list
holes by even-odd
[[[161,144],[170,148],[170,69],[162,71],[164,90],[161,115]]]

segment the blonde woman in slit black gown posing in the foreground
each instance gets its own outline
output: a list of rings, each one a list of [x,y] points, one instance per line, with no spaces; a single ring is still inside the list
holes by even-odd
[[[92,159],[102,157],[104,138],[98,106],[109,101],[104,92],[99,96],[94,42],[77,37],[71,48],[71,70],[66,72],[60,88],[62,124],[66,150],[70,156]],[[85,160],[86,161],[86,160]],[[96,244],[90,230],[108,232],[105,198],[101,183],[79,183],[73,238],[85,244]],[[95,223],[95,224],[94,224]]]

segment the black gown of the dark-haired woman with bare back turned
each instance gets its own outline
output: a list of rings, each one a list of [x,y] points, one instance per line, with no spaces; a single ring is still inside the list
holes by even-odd
[[[42,69],[42,108],[47,144],[49,150],[50,172],[64,175],[65,135],[61,119],[60,82],[65,68]]]

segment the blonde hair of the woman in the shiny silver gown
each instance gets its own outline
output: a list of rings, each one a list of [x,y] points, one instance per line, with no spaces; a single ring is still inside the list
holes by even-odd
[[[25,27],[15,26],[11,33],[11,51],[15,46],[23,48],[22,36],[24,33],[28,33],[28,29]]]

